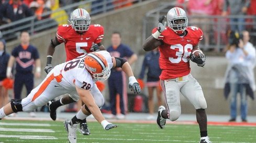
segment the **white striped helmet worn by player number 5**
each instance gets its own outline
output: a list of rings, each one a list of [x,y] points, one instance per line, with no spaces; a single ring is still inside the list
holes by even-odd
[[[85,32],[89,29],[91,17],[83,8],[77,8],[70,14],[72,28],[78,32]]]

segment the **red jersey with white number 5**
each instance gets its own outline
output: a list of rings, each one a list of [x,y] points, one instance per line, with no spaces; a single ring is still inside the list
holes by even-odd
[[[104,28],[99,24],[90,25],[82,35],[77,33],[71,25],[63,24],[58,27],[57,39],[65,44],[66,61],[92,52],[92,43],[98,44],[104,36]]]

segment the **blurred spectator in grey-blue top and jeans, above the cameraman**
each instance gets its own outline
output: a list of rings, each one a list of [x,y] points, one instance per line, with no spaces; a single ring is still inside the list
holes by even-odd
[[[250,2],[250,0],[225,0],[222,16],[227,16],[228,7],[230,8],[230,16],[237,16],[237,18],[230,18],[231,31],[241,33],[245,29],[243,16],[246,15]]]

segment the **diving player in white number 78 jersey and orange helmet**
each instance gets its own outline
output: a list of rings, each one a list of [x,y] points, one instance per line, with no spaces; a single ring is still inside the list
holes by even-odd
[[[125,59],[111,57],[107,51],[96,51],[55,66],[42,83],[34,88],[26,98],[12,99],[1,108],[0,120],[14,112],[33,111],[46,105],[53,98],[69,93],[70,95],[77,94],[85,103],[85,106],[72,120],[64,122],[70,142],[76,142],[77,123],[90,114],[93,114],[106,130],[117,127],[117,125],[107,122],[99,110],[97,99],[102,98],[92,95],[90,91],[95,86],[95,81],[108,79],[111,68],[122,68],[129,77],[130,89],[135,93],[140,93],[140,85],[133,76],[130,64]],[[104,102],[104,99],[99,102]]]

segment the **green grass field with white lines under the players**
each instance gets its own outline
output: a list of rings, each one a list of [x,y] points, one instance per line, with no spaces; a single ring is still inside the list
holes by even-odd
[[[118,123],[105,131],[96,122],[88,123],[91,135],[77,132],[77,142],[198,142],[198,125]],[[254,126],[208,126],[212,142],[256,142]],[[63,123],[59,121],[0,121],[0,142],[68,142]]]

